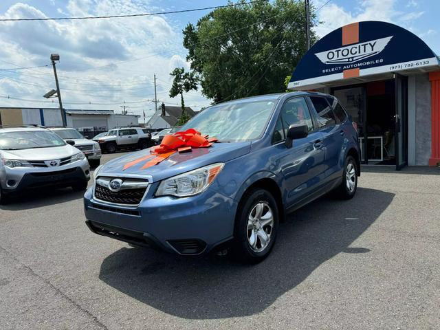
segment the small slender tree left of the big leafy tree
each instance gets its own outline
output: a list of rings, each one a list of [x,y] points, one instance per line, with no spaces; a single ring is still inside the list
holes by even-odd
[[[183,67],[176,67],[170,76],[174,77],[173,85],[170,89],[170,98],[180,95],[181,115],[177,120],[177,126],[181,126],[190,120],[190,116],[185,111],[184,92],[194,89],[197,91],[197,77],[195,72],[185,72]]]

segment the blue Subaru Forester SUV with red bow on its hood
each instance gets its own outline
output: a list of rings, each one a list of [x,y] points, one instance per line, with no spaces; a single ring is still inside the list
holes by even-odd
[[[358,132],[333,96],[292,92],[216,104],[186,129],[218,141],[148,168],[137,160],[145,149],[95,170],[84,199],[92,232],[182,255],[228,248],[257,263],[285,214],[327,192],[355,195]]]

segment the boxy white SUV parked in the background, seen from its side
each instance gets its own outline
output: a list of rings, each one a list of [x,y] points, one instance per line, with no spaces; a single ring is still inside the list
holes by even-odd
[[[140,127],[111,129],[107,135],[98,139],[101,150],[114,153],[121,149],[144,149],[152,145],[151,135]]]

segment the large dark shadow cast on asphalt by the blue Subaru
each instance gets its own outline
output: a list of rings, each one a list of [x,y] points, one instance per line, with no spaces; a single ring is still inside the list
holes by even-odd
[[[215,256],[186,259],[142,248],[122,248],[102,262],[99,278],[155,309],[179,318],[257,314],[350,245],[386,210],[394,194],[358,188],[350,201],[323,197],[281,223],[272,254],[258,265]]]

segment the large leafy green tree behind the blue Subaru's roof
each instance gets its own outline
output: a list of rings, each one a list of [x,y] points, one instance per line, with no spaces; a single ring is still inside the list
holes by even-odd
[[[315,17],[312,7],[312,27]],[[285,76],[306,52],[305,5],[275,0],[219,8],[183,32],[186,58],[207,98],[220,102],[285,91]]]

